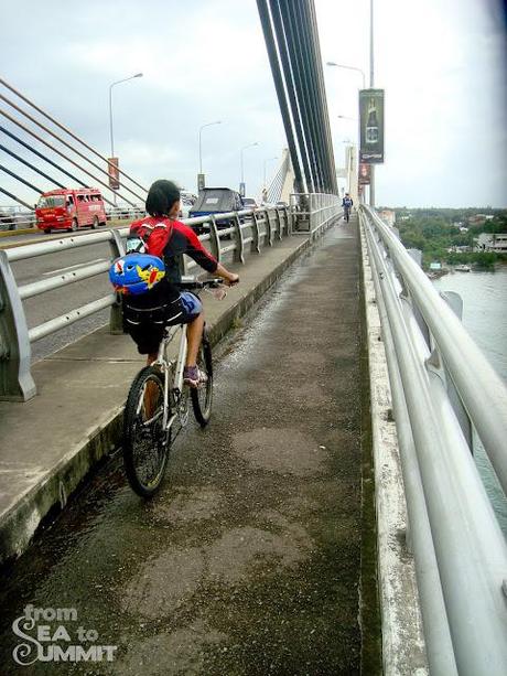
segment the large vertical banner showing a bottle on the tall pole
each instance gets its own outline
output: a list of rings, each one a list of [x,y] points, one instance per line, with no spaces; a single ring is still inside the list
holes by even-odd
[[[384,89],[359,92],[359,162],[384,162]]]

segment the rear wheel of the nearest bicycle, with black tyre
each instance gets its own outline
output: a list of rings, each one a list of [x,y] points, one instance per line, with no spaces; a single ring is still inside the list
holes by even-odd
[[[171,430],[163,429],[164,376],[145,366],[136,376],[123,414],[123,463],[132,490],[150,497],[168,464]]]

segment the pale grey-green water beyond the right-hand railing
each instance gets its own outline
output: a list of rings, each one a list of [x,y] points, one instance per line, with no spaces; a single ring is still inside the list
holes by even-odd
[[[434,282],[439,291],[455,291],[463,299],[463,325],[507,385],[507,266],[493,272],[451,271]],[[474,457],[507,537],[507,500],[478,438]]]

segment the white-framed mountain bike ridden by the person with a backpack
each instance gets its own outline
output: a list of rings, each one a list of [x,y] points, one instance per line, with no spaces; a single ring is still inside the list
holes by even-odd
[[[219,278],[183,279],[177,286],[198,294],[201,290],[218,289],[223,282]],[[226,292],[220,293],[224,298]],[[169,345],[177,335],[177,356],[169,358]],[[123,464],[130,486],[141,497],[151,497],[160,487],[171,446],[188,421],[188,394],[197,422],[203,428],[209,422],[213,360],[206,328],[197,355],[203,382],[196,388],[183,383],[186,347],[186,324],[166,326],[157,360],[144,366],[130,386],[123,412]],[[179,429],[173,433],[177,422]]]

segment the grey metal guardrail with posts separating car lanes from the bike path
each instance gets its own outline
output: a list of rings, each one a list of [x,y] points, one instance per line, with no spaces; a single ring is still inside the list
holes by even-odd
[[[208,226],[209,232],[201,235],[199,239],[209,247],[217,260],[225,255],[231,255],[234,261],[241,264],[248,253],[260,254],[262,247],[270,247],[276,240],[292,233],[292,215],[287,207],[244,210],[219,215],[220,223],[226,219],[230,221],[230,226],[223,229],[217,227],[215,216],[187,218],[183,222],[190,226]],[[72,309],[31,329],[28,329],[23,309],[23,301],[28,298],[105,273],[109,269],[108,261],[93,262],[79,270],[21,287],[15,282],[11,264],[106,242],[110,245],[112,260],[125,254],[123,238],[128,232],[129,228],[125,227],[0,250],[0,399],[26,401],[36,394],[31,375],[31,343],[34,341],[108,307],[111,308],[111,332],[121,332],[121,305],[115,293]],[[185,271],[195,265],[185,257]]]

